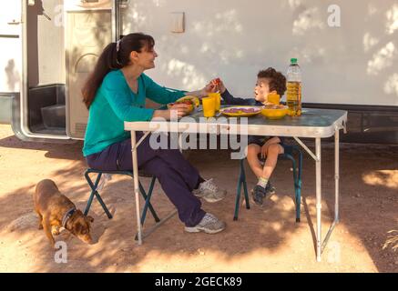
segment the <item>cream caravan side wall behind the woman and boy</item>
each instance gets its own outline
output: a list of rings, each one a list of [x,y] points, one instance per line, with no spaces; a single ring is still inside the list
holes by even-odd
[[[329,5],[341,27],[328,25]],[[170,13],[185,13],[185,33]],[[131,0],[123,33],[153,35],[159,84],[197,89],[220,76],[234,95],[252,96],[256,75],[303,71],[303,102],[398,105],[398,3],[395,0]]]

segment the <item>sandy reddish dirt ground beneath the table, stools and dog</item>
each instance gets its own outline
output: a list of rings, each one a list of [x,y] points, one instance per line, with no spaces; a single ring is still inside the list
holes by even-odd
[[[107,219],[95,200],[97,243],[85,245],[67,231],[67,263],[55,261],[43,230],[37,229],[32,194],[36,183],[53,179],[60,191],[84,209],[89,187],[82,142],[72,145],[22,142],[9,125],[0,125],[0,272],[397,272],[398,251],[383,248],[398,229],[398,146],[342,145],[341,222],[322,261],[314,250],[315,166],[304,155],[301,223],[294,219],[291,165],[281,161],[272,178],[277,193],[262,208],[242,207],[233,221],[238,161],[227,151],[192,151],[189,160],[202,176],[228,190],[221,202],[203,208],[227,222],[217,235],[189,234],[174,216],[142,246],[136,232],[132,181],[113,176],[101,192],[114,214]],[[322,233],[334,209],[333,147],[322,148]],[[248,172],[250,173],[250,172]],[[142,178],[148,186],[148,178]],[[254,176],[248,175],[249,186]],[[159,216],[173,206],[157,185],[152,199]],[[148,215],[145,227],[154,224]]]

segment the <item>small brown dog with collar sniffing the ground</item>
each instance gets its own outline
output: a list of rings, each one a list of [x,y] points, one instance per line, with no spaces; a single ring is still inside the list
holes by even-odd
[[[72,201],[59,192],[54,181],[46,179],[37,183],[33,201],[39,216],[38,228],[44,228],[51,246],[55,246],[53,235],[59,235],[61,226],[85,243],[92,243],[90,223],[94,218],[76,209]]]

